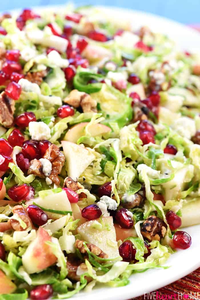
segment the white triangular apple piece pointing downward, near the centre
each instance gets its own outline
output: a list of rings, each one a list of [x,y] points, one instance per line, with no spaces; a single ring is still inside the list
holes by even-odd
[[[75,143],[62,141],[61,144],[67,161],[67,175],[76,181],[94,161],[95,156],[88,149]]]

